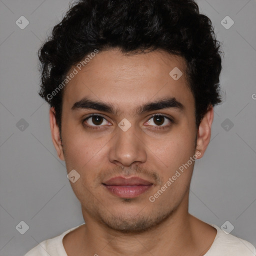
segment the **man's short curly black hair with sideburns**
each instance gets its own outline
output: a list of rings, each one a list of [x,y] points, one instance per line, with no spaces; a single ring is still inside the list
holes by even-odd
[[[52,91],[88,53],[115,47],[126,54],[161,49],[182,56],[197,127],[208,107],[221,102],[220,43],[194,0],[79,0],[38,50],[39,95],[54,107],[60,130],[63,89]]]

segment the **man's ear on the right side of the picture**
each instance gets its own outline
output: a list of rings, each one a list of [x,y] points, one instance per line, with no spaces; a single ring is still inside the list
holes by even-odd
[[[211,124],[213,121],[213,107],[210,105],[207,112],[203,116],[197,129],[196,150],[201,154],[197,158],[201,158],[210,142]]]

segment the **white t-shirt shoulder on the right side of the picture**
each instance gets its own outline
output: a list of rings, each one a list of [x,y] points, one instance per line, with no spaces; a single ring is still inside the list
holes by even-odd
[[[215,224],[210,225],[217,229],[217,234],[205,256],[256,256],[256,249],[250,242],[236,237],[230,233],[224,232]]]

